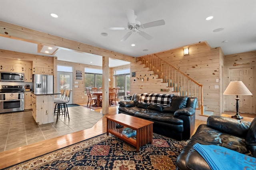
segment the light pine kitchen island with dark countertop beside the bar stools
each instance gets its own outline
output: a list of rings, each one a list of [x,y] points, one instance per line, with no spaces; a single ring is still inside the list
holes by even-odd
[[[54,122],[54,95],[32,92],[32,115],[39,125]]]

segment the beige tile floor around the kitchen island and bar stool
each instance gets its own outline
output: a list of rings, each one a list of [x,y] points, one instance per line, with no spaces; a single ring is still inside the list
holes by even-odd
[[[68,107],[69,117],[60,116],[56,122],[38,125],[32,111],[0,114],[0,152],[91,128],[102,118],[102,113],[84,106]]]

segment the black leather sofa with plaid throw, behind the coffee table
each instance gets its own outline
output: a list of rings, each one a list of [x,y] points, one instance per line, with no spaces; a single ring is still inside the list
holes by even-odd
[[[141,94],[133,94],[132,100],[120,101],[118,113],[153,121],[153,132],[177,140],[189,139],[195,128],[197,98],[172,96],[170,107],[139,103]]]

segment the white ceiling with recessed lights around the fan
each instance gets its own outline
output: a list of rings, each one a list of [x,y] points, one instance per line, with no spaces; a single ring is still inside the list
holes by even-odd
[[[133,57],[200,41],[207,41],[212,48],[221,47],[228,55],[256,50],[255,8],[256,0],[1,0],[0,20]],[[130,30],[105,27],[127,27],[127,9],[134,10],[136,20],[142,24],[163,19],[165,25],[143,29],[152,40],[132,33],[120,42]],[[50,13],[59,17],[52,18]],[[214,18],[206,21],[208,16]],[[218,28],[223,30],[213,31]],[[0,38],[0,49],[23,52],[27,48],[24,52],[36,53],[37,46],[30,43],[18,43],[14,47],[12,41],[3,39]],[[95,59],[87,64],[101,65],[101,58],[90,54],[84,57],[82,53],[60,50],[55,56],[68,61],[78,60],[74,59],[76,55],[82,60],[73,62]]]

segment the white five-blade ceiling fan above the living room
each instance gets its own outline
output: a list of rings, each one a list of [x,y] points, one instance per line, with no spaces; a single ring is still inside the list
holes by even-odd
[[[124,37],[120,41],[125,41],[126,39],[128,39],[128,37],[132,34],[132,32],[137,32],[142,37],[150,40],[153,37],[148,35],[147,33],[143,32],[143,31],[141,31],[140,29],[155,27],[155,26],[165,24],[164,20],[152,21],[152,22],[141,24],[140,21],[136,20],[137,16],[134,14],[134,10],[126,10],[126,16],[128,18],[128,21],[129,21],[128,22],[128,27],[108,27],[108,28],[106,28],[106,29],[110,29],[110,30],[130,29],[131,31],[126,33],[126,35],[124,35]]]

